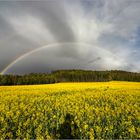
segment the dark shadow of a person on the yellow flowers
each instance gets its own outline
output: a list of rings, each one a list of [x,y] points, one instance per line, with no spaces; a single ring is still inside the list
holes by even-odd
[[[79,128],[74,122],[74,116],[67,113],[65,121],[60,125],[59,130],[59,139],[79,139]]]

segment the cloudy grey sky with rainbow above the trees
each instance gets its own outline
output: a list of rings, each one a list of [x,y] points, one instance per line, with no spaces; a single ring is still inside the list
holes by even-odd
[[[0,0],[1,74],[140,72],[140,0]]]

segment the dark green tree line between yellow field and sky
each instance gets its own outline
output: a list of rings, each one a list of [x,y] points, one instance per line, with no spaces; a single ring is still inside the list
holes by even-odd
[[[58,82],[105,82],[135,81],[140,82],[140,73],[126,71],[87,71],[57,70],[47,73],[31,73],[26,75],[0,75],[0,85],[34,85]]]

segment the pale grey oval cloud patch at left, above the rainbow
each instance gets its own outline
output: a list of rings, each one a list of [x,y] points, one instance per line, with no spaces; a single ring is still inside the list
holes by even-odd
[[[47,30],[43,23],[30,15],[9,18],[9,23],[15,29],[15,32],[32,42],[52,43],[55,41],[53,35]]]

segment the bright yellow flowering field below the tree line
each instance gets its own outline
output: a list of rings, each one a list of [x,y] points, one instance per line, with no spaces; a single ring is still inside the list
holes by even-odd
[[[1,86],[0,138],[140,138],[140,83]]]

